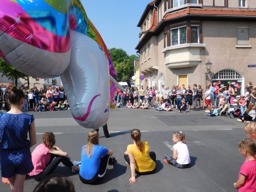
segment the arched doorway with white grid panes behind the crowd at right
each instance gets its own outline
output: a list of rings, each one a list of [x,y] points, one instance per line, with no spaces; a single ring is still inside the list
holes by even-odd
[[[237,71],[231,69],[224,69],[217,72],[212,77],[212,83],[220,81],[219,87],[228,86],[229,83],[235,83],[235,92],[238,96],[244,94],[244,78]]]

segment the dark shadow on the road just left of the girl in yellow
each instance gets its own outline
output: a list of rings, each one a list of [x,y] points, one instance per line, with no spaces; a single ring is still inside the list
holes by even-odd
[[[126,166],[123,166],[119,163],[115,163],[112,169],[106,170],[106,175],[102,178],[102,180],[99,183],[95,185],[101,185],[103,183],[111,181],[112,179],[120,177],[121,175],[126,173],[126,168],[127,168]],[[110,191],[117,191],[117,190],[110,190]]]

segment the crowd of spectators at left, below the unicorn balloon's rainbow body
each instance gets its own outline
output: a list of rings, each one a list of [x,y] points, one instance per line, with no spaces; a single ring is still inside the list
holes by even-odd
[[[4,109],[9,111],[10,106],[8,104],[8,92],[11,86],[8,86],[5,89],[5,92],[1,90],[0,93],[0,110]],[[46,90],[40,88],[40,91],[37,87],[20,87],[25,94],[25,104],[23,106],[23,112],[25,111],[60,111],[60,110],[69,110],[69,102],[66,97],[66,92],[63,87],[57,86],[48,86]],[[3,101],[5,105],[3,106]]]

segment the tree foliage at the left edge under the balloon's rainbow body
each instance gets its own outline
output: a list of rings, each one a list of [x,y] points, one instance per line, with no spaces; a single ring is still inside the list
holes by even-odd
[[[9,80],[15,81],[15,86],[18,86],[18,78],[26,79],[29,76],[19,72],[12,66],[10,66],[4,59],[0,57],[0,73],[2,73],[2,77],[6,76]]]

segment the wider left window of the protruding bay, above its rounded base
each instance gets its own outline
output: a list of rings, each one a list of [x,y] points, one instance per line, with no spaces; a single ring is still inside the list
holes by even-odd
[[[186,44],[187,42],[187,29],[186,27],[170,30],[171,46]]]

